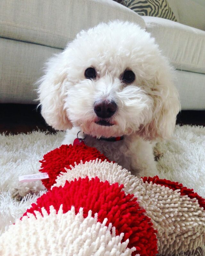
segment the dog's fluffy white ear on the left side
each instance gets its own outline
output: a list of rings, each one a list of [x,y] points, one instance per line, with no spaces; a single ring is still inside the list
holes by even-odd
[[[38,81],[41,114],[47,124],[57,130],[66,130],[72,127],[64,108],[66,71],[63,53],[58,54],[47,62],[45,75]]]

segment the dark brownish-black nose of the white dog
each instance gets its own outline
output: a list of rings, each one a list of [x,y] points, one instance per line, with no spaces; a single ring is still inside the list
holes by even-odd
[[[94,103],[94,111],[98,117],[109,118],[114,115],[117,104],[114,101],[96,101]]]

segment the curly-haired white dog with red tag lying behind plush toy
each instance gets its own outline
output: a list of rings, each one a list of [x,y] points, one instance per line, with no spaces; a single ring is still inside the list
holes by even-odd
[[[81,131],[86,145],[134,175],[158,174],[153,145],[172,136],[180,104],[168,61],[145,30],[111,21],[81,31],[48,61],[38,93],[46,122],[67,130],[63,144]]]

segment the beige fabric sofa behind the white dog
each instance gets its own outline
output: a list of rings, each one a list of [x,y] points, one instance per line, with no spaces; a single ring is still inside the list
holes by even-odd
[[[168,2],[185,25],[139,16],[112,0],[0,1],[0,103],[34,104],[34,83],[49,57],[61,52],[81,29],[121,19],[139,24],[156,38],[176,68],[182,109],[205,109],[204,1]]]

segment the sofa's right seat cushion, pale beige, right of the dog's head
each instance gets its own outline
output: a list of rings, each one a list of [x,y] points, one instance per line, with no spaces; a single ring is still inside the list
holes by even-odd
[[[176,69],[205,74],[205,31],[162,18],[142,18]]]

